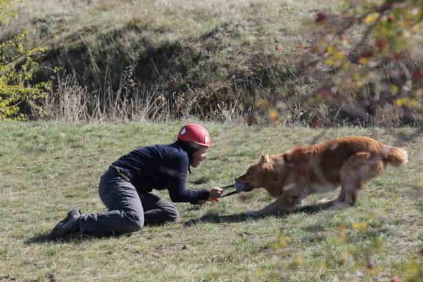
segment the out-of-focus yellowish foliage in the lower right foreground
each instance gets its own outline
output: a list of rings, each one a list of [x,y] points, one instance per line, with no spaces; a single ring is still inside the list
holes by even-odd
[[[325,244],[327,246],[322,246],[322,248],[325,248],[328,252],[336,250],[333,257],[334,261],[321,261],[317,259],[313,263],[316,264],[317,268],[321,269],[323,274],[325,274],[325,272],[331,272],[331,266],[336,263],[338,266],[346,266],[347,268],[351,268],[352,265],[356,266],[358,270],[361,270],[361,279],[367,277],[378,281],[377,276],[380,275],[381,272],[383,272],[383,276],[386,276],[387,273],[385,272],[389,270],[389,272],[391,272],[389,281],[391,282],[422,281],[423,264],[421,261],[416,261],[416,259],[413,258],[415,255],[407,261],[398,261],[393,265],[393,262],[387,259],[383,254],[385,250],[382,234],[378,234],[378,232],[375,233],[370,227],[372,220],[378,216],[380,216],[380,214],[366,213],[363,215],[361,222],[353,222],[351,226],[338,226],[336,235],[326,238]],[[369,244],[366,244],[364,247],[358,246],[359,238],[366,237],[369,234],[372,235]],[[273,244],[273,249],[280,254],[290,252],[291,250],[286,250],[286,248],[289,247],[289,241],[290,238],[284,233],[281,233]],[[419,252],[420,255],[423,255],[423,249],[419,250]],[[380,259],[374,261],[374,257]],[[294,256],[292,263],[293,265],[299,266],[311,262],[303,257]],[[255,277],[258,279],[261,279],[265,275],[269,275],[269,273],[266,273],[266,269],[264,268],[259,268],[255,272]]]

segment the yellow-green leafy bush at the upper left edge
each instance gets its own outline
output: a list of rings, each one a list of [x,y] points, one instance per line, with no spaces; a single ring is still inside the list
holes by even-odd
[[[12,0],[0,1],[0,27],[7,25],[11,16],[17,16],[12,5]],[[43,109],[38,102],[52,86],[52,82],[32,84],[38,66],[34,54],[44,49],[41,46],[25,49],[22,41],[26,34],[0,40],[0,120],[25,120],[25,112],[40,114]]]

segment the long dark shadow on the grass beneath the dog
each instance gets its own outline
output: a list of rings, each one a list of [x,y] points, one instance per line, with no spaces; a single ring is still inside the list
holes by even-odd
[[[260,215],[257,217],[252,217],[250,215],[246,215],[244,213],[237,213],[233,215],[219,215],[218,213],[207,213],[203,215],[201,218],[188,220],[184,223],[185,226],[192,226],[197,224],[198,222],[207,222],[207,223],[225,223],[225,222],[244,222],[245,220],[255,220],[260,218],[268,218],[268,217],[284,217],[289,214],[293,213],[317,213],[319,211],[324,211],[328,209],[328,206],[325,204],[315,204],[310,206],[299,207],[297,209],[293,209],[291,211],[280,212],[277,214],[271,215]]]

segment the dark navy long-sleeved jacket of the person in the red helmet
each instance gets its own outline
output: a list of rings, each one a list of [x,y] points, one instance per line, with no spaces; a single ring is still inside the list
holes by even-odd
[[[190,158],[180,142],[152,145],[133,150],[112,163],[121,167],[130,183],[143,194],[152,189],[168,189],[173,202],[196,202],[209,198],[208,189],[185,187]]]

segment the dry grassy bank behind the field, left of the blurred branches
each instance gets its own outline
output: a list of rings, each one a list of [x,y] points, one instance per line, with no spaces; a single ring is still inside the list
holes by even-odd
[[[45,111],[32,113],[35,119],[243,121],[254,116],[258,123],[273,122],[260,104],[266,99],[277,107],[279,124],[312,126],[317,119],[324,126],[418,124],[391,98],[374,103],[371,84],[348,93],[365,115],[340,105],[342,97],[337,105],[307,101],[318,82],[333,73],[321,67],[312,78],[295,58],[317,40],[310,25],[316,25],[317,12],[336,14],[343,8],[340,1],[32,0],[17,6],[20,16],[0,38],[26,29],[28,47],[47,40],[47,51],[37,58],[36,80],[53,76],[56,87],[44,101]],[[349,40],[361,32],[353,28]],[[419,46],[414,45],[414,54],[422,54]],[[407,64],[423,65],[419,56]],[[389,75],[381,80],[390,80]],[[65,110],[69,106],[72,110]],[[72,114],[64,117],[66,111]]]

